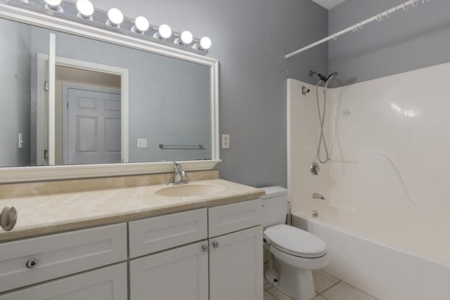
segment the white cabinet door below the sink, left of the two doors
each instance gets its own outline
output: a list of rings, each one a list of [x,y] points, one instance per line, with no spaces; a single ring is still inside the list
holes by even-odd
[[[207,300],[207,241],[134,259],[129,280],[131,300]]]

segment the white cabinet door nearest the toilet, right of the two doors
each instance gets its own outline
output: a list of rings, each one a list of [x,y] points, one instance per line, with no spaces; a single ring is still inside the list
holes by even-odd
[[[210,239],[210,299],[261,300],[262,226]]]

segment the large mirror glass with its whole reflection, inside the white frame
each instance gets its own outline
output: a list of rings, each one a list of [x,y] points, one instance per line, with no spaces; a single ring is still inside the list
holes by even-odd
[[[37,124],[39,94],[45,91],[41,91],[44,85],[37,86],[37,80],[42,76],[39,72],[43,72],[38,67],[38,57],[39,53],[42,57],[49,51],[49,32],[52,31],[0,19],[0,47],[4,53],[0,58],[4,91],[0,100],[1,167],[46,164],[46,149],[40,149],[37,141],[37,131],[45,130]],[[56,115],[46,117],[56,120],[56,164],[212,159],[209,66],[55,33]],[[86,66],[74,68],[73,65],[58,63],[64,59],[82,61]],[[125,83],[129,91],[127,117],[123,117],[124,112],[119,107],[123,105],[124,97],[120,74],[107,72],[109,79],[106,78],[108,76],[92,78],[93,74],[99,73],[91,72],[97,69],[91,69],[89,63],[128,71],[129,82]],[[103,72],[101,77],[104,75]],[[84,93],[89,89],[91,94]],[[109,94],[99,96],[101,93]],[[92,100],[96,98],[94,94],[103,100]],[[112,96],[116,98],[110,99]],[[75,102],[75,107],[87,106],[83,114],[87,114],[89,107],[108,107],[107,111],[112,115],[103,114],[103,122],[94,121],[95,117],[89,114],[69,112],[66,103],[71,107],[71,101]],[[125,127],[124,122],[127,122]],[[122,134],[117,133],[120,131]],[[23,143],[20,143],[20,137]],[[127,140],[127,149],[124,149],[123,141]],[[167,149],[160,148],[160,144],[203,145],[203,148]],[[101,155],[101,152],[110,157]],[[80,153],[89,158],[80,158]]]

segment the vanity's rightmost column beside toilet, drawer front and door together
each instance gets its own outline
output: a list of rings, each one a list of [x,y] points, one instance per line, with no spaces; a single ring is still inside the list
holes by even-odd
[[[261,200],[212,207],[208,218],[210,299],[263,299]]]

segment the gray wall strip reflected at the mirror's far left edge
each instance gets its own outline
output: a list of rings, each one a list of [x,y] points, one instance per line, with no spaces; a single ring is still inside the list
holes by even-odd
[[[0,19],[0,167],[30,164],[30,27]],[[23,133],[23,148],[18,148]]]

